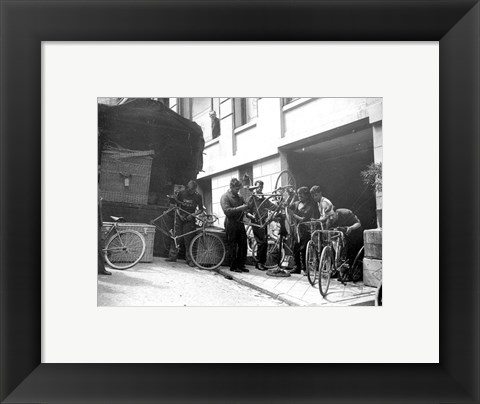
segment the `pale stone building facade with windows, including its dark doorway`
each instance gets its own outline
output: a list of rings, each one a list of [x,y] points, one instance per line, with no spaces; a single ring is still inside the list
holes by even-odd
[[[297,187],[320,185],[337,208],[353,210],[365,228],[377,227],[381,194],[361,172],[382,162],[382,98],[171,98],[170,108],[204,132],[203,172],[198,175],[207,209],[224,214],[220,197],[230,179],[248,174],[274,189],[284,169]],[[220,135],[212,135],[215,111]],[[218,123],[218,121],[217,121]]]

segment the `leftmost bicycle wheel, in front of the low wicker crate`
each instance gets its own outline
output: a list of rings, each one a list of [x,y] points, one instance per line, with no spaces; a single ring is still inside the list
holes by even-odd
[[[136,230],[120,230],[107,241],[105,261],[115,269],[136,265],[145,254],[145,238]]]

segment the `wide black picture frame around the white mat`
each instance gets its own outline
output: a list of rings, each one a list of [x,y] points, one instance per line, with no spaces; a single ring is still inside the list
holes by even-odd
[[[2,0],[0,11],[2,402],[479,402],[478,0]],[[152,40],[439,41],[439,364],[41,363],[41,41]]]

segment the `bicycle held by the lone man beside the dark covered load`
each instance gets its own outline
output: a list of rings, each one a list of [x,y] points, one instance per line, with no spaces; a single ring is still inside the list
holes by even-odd
[[[210,270],[217,269],[225,259],[226,249],[222,239],[216,234],[209,233],[207,228],[212,226],[218,218],[215,215],[208,215],[203,212],[199,214],[190,213],[178,206],[163,208],[166,209],[165,212],[151,220],[150,224],[154,225],[158,231],[170,237],[175,243],[175,248],[177,249],[179,248],[178,239],[189,234],[198,233],[193,237],[190,245],[185,246],[185,248],[189,249],[190,257],[198,268]],[[173,214],[173,228],[168,225],[168,217],[171,214]],[[187,218],[188,216],[193,216],[195,218],[195,230],[183,234],[176,234],[176,221],[181,218]]]

